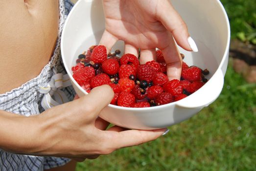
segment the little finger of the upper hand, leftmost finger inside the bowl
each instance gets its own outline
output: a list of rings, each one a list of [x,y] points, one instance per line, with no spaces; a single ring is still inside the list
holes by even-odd
[[[107,54],[109,54],[109,52],[111,51],[111,48],[114,46],[116,41],[118,41],[118,39],[114,35],[112,35],[110,32],[105,30],[99,44],[106,46]]]

